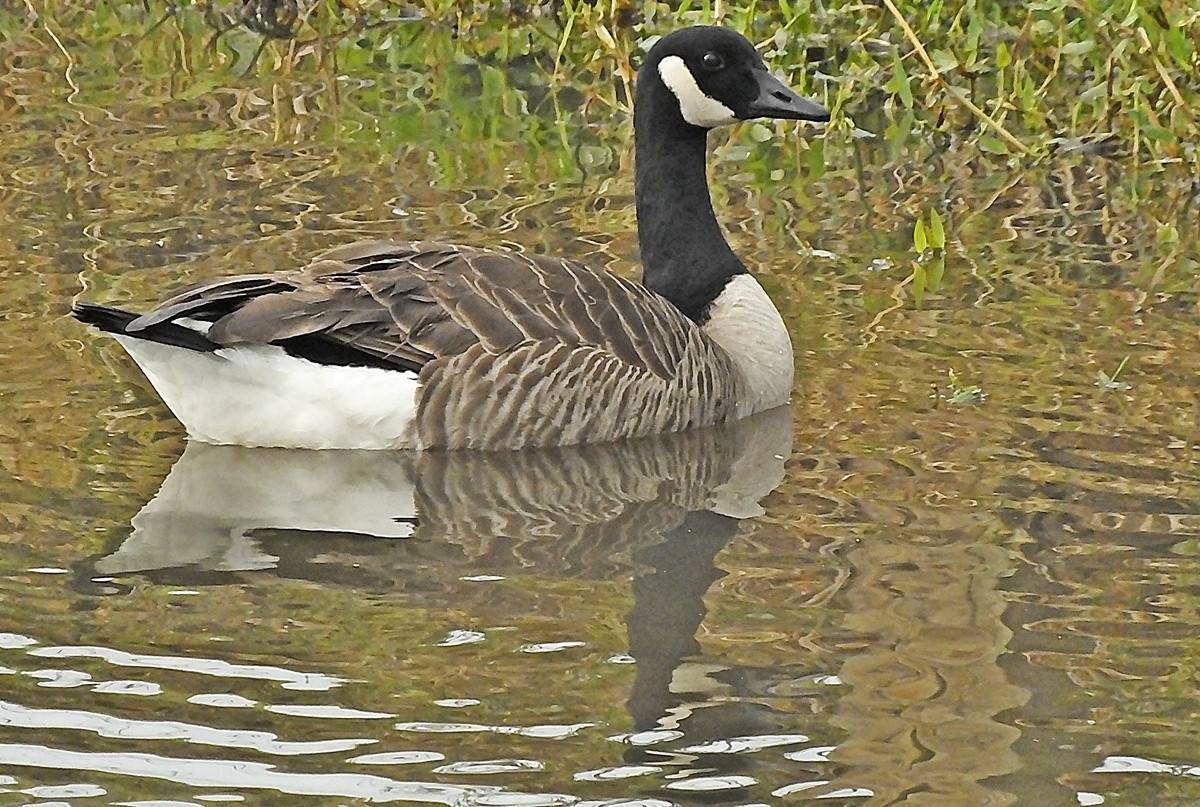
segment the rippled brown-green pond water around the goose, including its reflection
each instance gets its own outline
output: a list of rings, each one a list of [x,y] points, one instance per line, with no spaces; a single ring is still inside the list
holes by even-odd
[[[1170,167],[830,134],[817,171],[814,132],[744,127],[715,196],[792,328],[790,413],[185,452],[73,299],[373,235],[635,273],[629,132],[442,31],[336,66],[271,42],[241,77],[257,36],[133,5],[0,10],[0,805],[1200,802],[1200,232]]]

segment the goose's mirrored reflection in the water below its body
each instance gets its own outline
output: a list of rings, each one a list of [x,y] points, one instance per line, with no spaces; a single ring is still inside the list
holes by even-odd
[[[757,733],[772,721],[752,704],[686,704],[706,699],[696,681],[712,672],[696,658],[695,636],[703,596],[724,575],[714,558],[742,520],[763,512],[758,502],[782,480],[791,440],[791,414],[780,407],[714,429],[535,452],[190,443],[128,538],[83,572],[197,584],[271,569],[457,606],[464,575],[632,573],[636,729],[691,739]]]

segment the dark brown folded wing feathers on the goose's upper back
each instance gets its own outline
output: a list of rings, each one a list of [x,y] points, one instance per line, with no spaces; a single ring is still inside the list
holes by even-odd
[[[130,330],[185,317],[211,321],[220,345],[319,335],[410,366],[476,342],[502,353],[552,340],[604,347],[660,376],[673,366],[646,335],[682,318],[641,286],[566,261],[389,241],[337,247],[295,273],[185,289]]]

